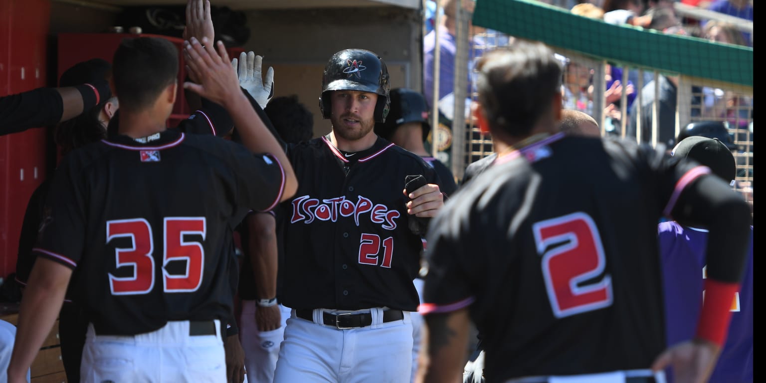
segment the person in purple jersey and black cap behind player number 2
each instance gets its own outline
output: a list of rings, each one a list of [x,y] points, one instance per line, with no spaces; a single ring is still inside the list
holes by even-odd
[[[725,142],[702,136],[689,136],[679,141],[673,156],[689,158],[708,166],[725,182],[734,183],[734,155]],[[665,313],[669,345],[694,337],[693,323],[702,306],[705,288],[705,244],[708,231],[701,224],[682,225],[676,221],[660,223],[660,254],[665,283]],[[753,227],[745,277],[731,306],[732,322],[718,364],[710,375],[712,383],[745,383],[753,381]],[[668,381],[674,381],[673,374]]]

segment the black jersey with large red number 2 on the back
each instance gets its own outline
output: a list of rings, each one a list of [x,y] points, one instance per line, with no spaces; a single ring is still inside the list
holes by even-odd
[[[656,224],[707,172],[563,133],[501,156],[431,223],[421,312],[470,306],[487,381],[648,368],[665,347]]]

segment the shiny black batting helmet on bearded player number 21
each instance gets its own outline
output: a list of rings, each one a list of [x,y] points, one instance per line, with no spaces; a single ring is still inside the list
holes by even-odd
[[[322,117],[330,118],[332,90],[358,90],[378,93],[375,105],[375,121],[382,123],[388,115],[388,69],[377,54],[365,49],[344,49],[330,57],[322,75],[322,97],[319,97],[319,110]]]

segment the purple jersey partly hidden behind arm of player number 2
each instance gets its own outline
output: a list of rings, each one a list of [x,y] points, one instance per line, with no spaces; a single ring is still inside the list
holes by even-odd
[[[692,339],[702,309],[702,283],[708,231],[687,228],[676,221],[659,226],[660,252],[665,288],[666,337],[668,345]],[[726,343],[710,382],[753,381],[753,239],[742,278],[732,303],[732,322]],[[669,381],[672,375],[668,375]]]

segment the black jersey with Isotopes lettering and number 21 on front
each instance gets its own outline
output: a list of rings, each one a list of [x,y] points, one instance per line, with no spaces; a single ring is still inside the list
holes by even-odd
[[[293,309],[414,311],[421,237],[408,228],[407,175],[439,184],[420,156],[378,138],[344,153],[328,137],[293,144],[287,154],[299,186],[284,216],[282,298]]]

